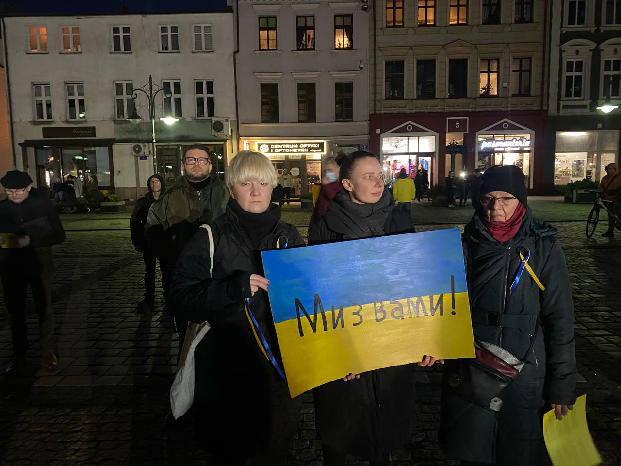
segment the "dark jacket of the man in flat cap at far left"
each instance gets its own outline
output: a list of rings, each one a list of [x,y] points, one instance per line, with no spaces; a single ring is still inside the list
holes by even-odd
[[[30,237],[30,245],[0,249],[0,272],[19,273],[39,263],[36,248],[50,247],[65,240],[65,229],[45,191],[31,188],[22,203],[0,201],[0,233]]]

